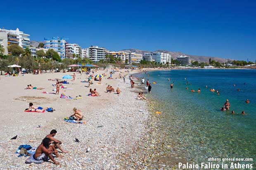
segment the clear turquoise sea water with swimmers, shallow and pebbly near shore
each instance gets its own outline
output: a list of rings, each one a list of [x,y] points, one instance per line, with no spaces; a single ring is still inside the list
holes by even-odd
[[[152,93],[147,97],[159,101],[156,109],[163,116],[160,126],[167,139],[159,157],[170,164],[175,162],[173,158],[177,162],[185,159],[201,163],[212,157],[253,158],[254,161],[240,163],[255,163],[256,70],[171,70],[147,74],[135,76],[157,82],[152,84]],[[198,88],[201,93],[190,92]],[[220,95],[209,91],[210,88],[217,89]],[[231,107],[222,112],[220,108],[226,99]],[[247,115],[241,115],[242,111]]]

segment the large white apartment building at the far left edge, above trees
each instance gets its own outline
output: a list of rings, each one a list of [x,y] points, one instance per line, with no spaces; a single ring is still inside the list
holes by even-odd
[[[4,54],[10,54],[8,53],[7,47],[12,44],[17,44],[23,49],[26,49],[27,47],[29,48],[30,39],[28,37],[29,35],[25,34],[23,31],[20,31],[19,28],[16,30],[0,29],[0,39],[2,40],[1,44],[5,49]]]

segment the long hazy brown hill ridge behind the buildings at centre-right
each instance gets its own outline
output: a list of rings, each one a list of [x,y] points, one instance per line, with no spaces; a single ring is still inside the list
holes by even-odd
[[[137,53],[137,54],[144,54],[144,53],[149,53],[149,52],[168,53],[168,54],[171,54],[173,59],[176,59],[178,56],[181,56],[181,55],[186,55],[186,56],[190,56],[192,61],[198,61],[199,63],[201,63],[201,62],[208,63],[210,58],[211,58],[211,60],[215,60],[220,63],[225,63],[229,60],[232,60],[232,59],[225,59],[225,58],[219,58],[219,57],[195,56],[195,55],[191,55],[191,54],[184,54],[182,52],[175,52],[175,51],[168,51],[168,50],[145,51],[145,50],[140,50],[140,49],[123,49],[120,51],[125,51],[125,52],[129,52],[129,53],[133,52],[133,53]]]

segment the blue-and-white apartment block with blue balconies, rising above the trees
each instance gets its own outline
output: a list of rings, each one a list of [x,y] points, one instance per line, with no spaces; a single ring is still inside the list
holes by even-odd
[[[54,49],[55,51],[58,52],[60,55],[60,58],[66,58],[66,49],[65,49],[65,44],[66,44],[67,38],[64,37],[52,37],[52,39],[47,39],[44,38],[44,48],[45,49]]]

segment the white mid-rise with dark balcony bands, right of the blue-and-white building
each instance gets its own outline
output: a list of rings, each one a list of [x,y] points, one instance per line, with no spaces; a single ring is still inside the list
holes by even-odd
[[[99,62],[100,60],[104,60],[106,56],[106,49],[98,47],[98,46],[91,46],[89,47],[89,59],[92,60],[94,63]]]

